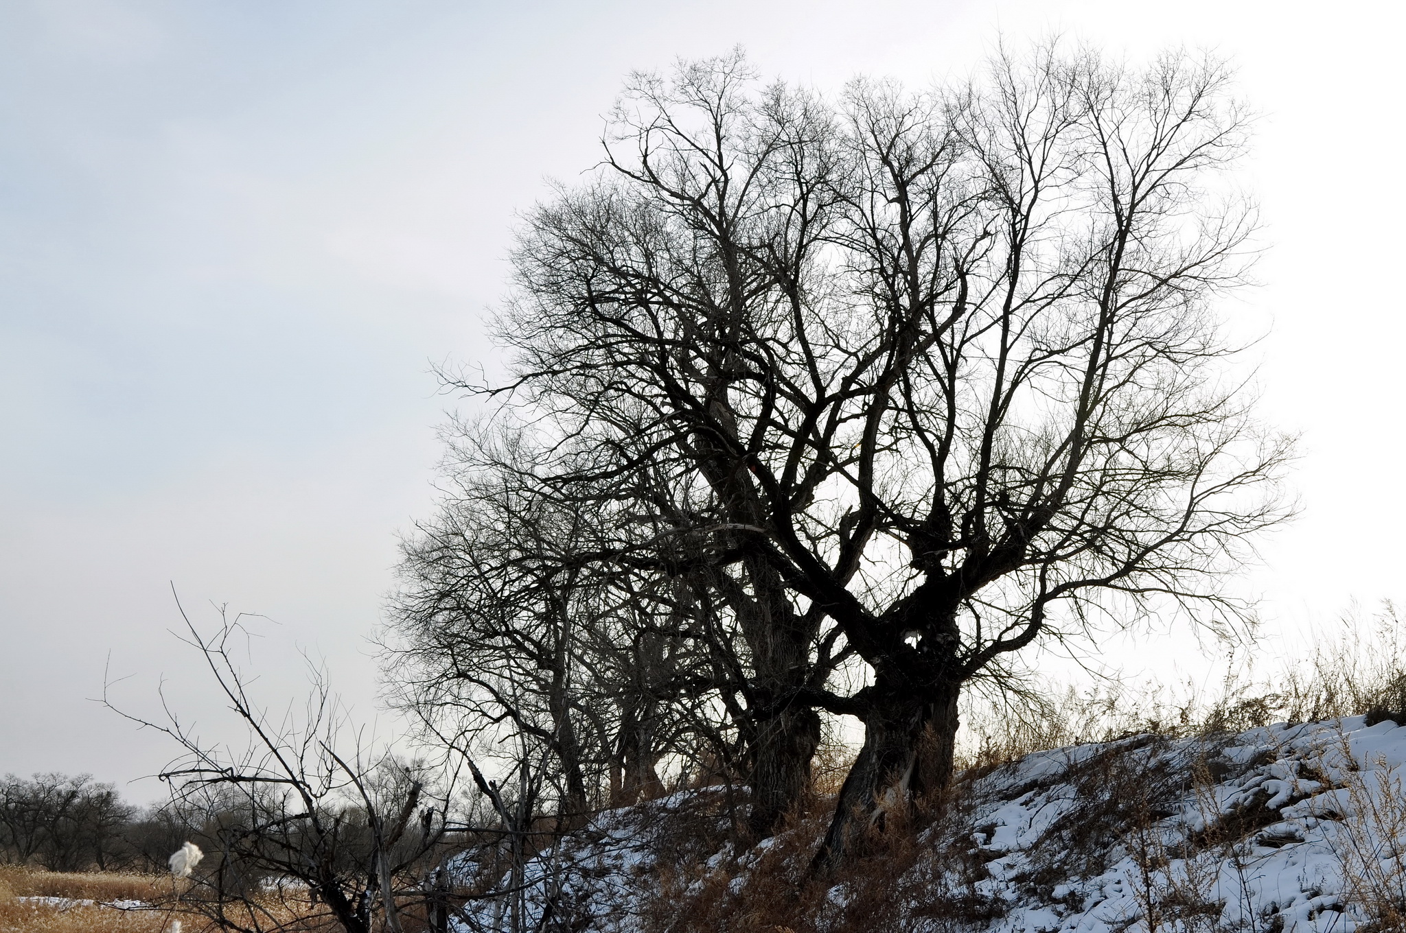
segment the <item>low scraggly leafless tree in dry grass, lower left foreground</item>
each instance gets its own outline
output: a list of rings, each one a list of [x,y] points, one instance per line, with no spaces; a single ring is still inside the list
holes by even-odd
[[[443,854],[451,788],[432,792],[425,769],[368,746],[321,672],[301,717],[270,717],[232,656],[240,618],[222,613],[208,637],[188,618],[186,625],[247,732],[247,750],[201,742],[169,707],[162,724],[121,714],[183,749],[160,778],[187,822],[205,823],[214,836],[212,857],[181,892],[184,908],[240,933],[302,929],[308,916],[346,933],[398,933],[406,905],[434,901],[427,870]],[[295,912],[304,916],[290,916],[269,885],[284,901],[305,899]]]

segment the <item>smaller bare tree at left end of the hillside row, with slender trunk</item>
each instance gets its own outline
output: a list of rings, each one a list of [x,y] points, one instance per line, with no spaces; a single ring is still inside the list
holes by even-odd
[[[558,814],[574,823],[603,764],[578,638],[593,607],[582,568],[561,551],[576,540],[576,517],[519,493],[510,482],[464,490],[457,509],[406,542],[388,681],[432,728],[463,739],[506,725],[544,746],[562,784]]]

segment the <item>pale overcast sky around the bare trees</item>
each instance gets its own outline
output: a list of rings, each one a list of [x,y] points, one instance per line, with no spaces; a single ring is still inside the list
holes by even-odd
[[[1399,3],[1059,0],[0,4],[0,773],[128,781],[172,749],[91,701],[202,698],[197,622],[259,613],[373,718],[395,534],[433,503],[432,361],[491,358],[515,211],[596,156],[631,69],[742,44],[766,74],[966,74],[997,38],[1240,66],[1270,330],[1264,413],[1303,517],[1247,586],[1272,632],[1406,597]],[[1132,663],[1142,663],[1135,655]],[[380,714],[382,731],[394,721]],[[150,781],[128,788],[157,794]]]

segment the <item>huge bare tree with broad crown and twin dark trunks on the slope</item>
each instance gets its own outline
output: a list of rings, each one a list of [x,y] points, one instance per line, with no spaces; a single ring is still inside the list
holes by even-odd
[[[865,724],[824,863],[948,781],[959,693],[1015,652],[1243,618],[1220,580],[1285,517],[1289,445],[1215,309],[1254,222],[1218,181],[1227,81],[1052,45],[832,104],[685,63],[634,76],[596,176],[527,216],[512,377],[458,385],[561,444],[519,468],[544,496],[603,483],[596,513],[650,530],[600,561],[652,561],[740,635],[756,830],[817,708]]]

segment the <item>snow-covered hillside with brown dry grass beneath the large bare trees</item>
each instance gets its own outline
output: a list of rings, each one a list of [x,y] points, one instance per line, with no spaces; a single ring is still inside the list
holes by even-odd
[[[1362,717],[1039,752],[969,776],[917,846],[821,881],[818,821],[709,854],[720,797],[683,794],[602,814],[508,887],[526,929],[612,933],[1396,930],[1403,764],[1406,728]],[[460,929],[510,930],[510,906]]]

